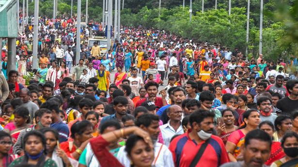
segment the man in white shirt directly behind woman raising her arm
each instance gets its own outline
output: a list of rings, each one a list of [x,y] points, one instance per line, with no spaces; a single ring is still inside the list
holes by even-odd
[[[174,167],[172,152],[170,152],[167,146],[157,142],[158,135],[159,135],[158,122],[159,122],[159,118],[157,115],[144,114],[144,115],[141,115],[135,123],[136,123],[136,126],[139,126],[141,129],[149,133],[154,143],[155,158],[152,163],[152,166],[153,167]],[[120,148],[116,158],[124,167],[131,167],[130,161],[127,157],[127,153],[125,152],[125,146]]]

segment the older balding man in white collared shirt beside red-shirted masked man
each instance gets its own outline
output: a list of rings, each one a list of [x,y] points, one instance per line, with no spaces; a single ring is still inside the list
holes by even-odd
[[[173,105],[170,106],[166,112],[170,121],[159,126],[159,129],[162,135],[163,143],[169,147],[173,136],[184,134],[181,125],[183,111],[180,106]]]

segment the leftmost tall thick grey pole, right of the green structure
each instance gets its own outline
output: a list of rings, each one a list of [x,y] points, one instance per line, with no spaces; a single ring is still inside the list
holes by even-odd
[[[38,48],[38,8],[39,0],[34,0],[34,33],[33,33],[33,58],[32,58],[32,68],[38,68],[37,59],[37,48]]]

